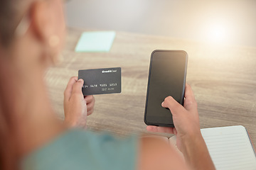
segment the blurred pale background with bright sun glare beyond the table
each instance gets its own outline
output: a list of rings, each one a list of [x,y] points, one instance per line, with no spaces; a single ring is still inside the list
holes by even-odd
[[[70,0],[67,26],[256,47],[255,0]]]

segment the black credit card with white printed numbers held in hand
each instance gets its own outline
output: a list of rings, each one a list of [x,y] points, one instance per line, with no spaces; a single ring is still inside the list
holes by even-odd
[[[84,80],[82,94],[84,96],[95,94],[121,93],[121,68],[81,69],[78,79]]]

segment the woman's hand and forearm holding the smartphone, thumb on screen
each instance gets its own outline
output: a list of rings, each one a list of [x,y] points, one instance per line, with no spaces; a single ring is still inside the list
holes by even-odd
[[[201,135],[197,103],[191,86],[186,84],[184,107],[171,96],[166,97],[161,105],[170,109],[175,128],[148,126],[146,129],[176,135],[177,147],[191,169],[215,169]]]

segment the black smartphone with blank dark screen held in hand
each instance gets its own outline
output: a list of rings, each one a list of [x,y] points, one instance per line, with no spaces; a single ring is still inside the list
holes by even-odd
[[[169,108],[161,103],[172,96],[183,106],[188,54],[183,50],[154,50],[151,53],[146,92],[146,125],[174,127]]]

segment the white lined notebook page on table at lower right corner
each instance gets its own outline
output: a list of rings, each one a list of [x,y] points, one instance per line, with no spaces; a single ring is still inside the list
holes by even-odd
[[[201,129],[217,170],[255,170],[256,156],[243,126]]]

